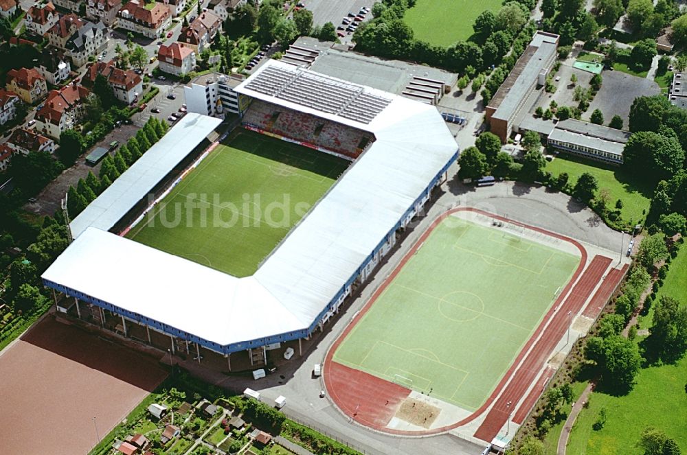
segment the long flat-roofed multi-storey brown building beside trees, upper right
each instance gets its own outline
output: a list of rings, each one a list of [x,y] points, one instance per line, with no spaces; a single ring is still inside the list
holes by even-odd
[[[538,31],[486,106],[491,132],[506,143],[532,109],[556,60],[559,36]]]

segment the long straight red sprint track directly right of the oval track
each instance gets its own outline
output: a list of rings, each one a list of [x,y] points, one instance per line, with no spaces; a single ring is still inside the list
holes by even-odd
[[[570,318],[567,316],[568,312],[577,314],[582,310],[583,305],[592,294],[596,284],[603,277],[604,272],[611,264],[611,259],[604,256],[595,256],[591,264],[587,267],[584,274],[572,289],[570,296],[565,299],[565,303],[560,310],[556,312],[551,324],[546,328],[545,334],[537,340],[532,351],[527,355],[522,366],[517,370],[513,376],[513,381],[510,382],[508,388],[497,399],[494,407],[489,411],[488,415],[480,428],[477,428],[475,437],[482,439],[482,441],[491,441],[498,434],[499,430],[503,428],[508,420],[511,406],[515,406],[518,401],[525,395],[527,388],[532,384],[537,373],[541,371],[545,362],[548,360],[551,352],[556,347],[556,344],[561,340],[570,323]]]

